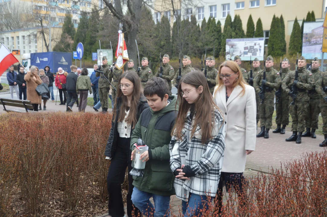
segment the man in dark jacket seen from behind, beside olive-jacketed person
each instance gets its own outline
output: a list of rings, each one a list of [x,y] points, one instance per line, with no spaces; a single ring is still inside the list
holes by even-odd
[[[77,66],[71,65],[70,66],[71,72],[67,75],[66,78],[66,89],[67,89],[67,105],[66,105],[66,112],[72,112],[73,105],[77,101],[77,93],[76,93],[76,83],[77,83]]]

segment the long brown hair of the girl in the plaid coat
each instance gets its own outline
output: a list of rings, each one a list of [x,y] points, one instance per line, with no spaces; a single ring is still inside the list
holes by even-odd
[[[175,135],[178,139],[181,139],[181,131],[184,128],[186,114],[190,110],[191,106],[195,108],[195,120],[192,126],[193,136],[196,127],[199,125],[201,128],[201,143],[205,144],[207,140],[212,139],[212,130],[215,122],[214,108],[219,108],[216,106],[213,97],[210,93],[207,79],[204,74],[200,71],[191,71],[186,75],[182,76],[181,81],[178,85],[178,93],[182,91],[181,83],[192,85],[196,88],[203,86],[202,93],[198,96],[193,104],[189,104],[181,94],[178,94],[179,109],[176,118],[176,123],[172,130],[172,135]],[[220,110],[219,110],[220,112]]]

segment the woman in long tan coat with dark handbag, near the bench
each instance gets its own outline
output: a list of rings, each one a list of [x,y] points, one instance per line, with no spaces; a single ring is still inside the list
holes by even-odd
[[[41,78],[38,75],[39,69],[36,66],[32,66],[24,77],[27,88],[27,100],[31,101],[34,109],[33,111],[38,112],[38,106],[42,102],[41,96],[36,92],[36,87],[42,84]]]

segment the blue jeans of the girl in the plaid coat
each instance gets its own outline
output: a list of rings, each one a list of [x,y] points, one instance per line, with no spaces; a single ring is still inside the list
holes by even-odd
[[[182,213],[184,217],[188,216],[201,216],[201,209],[205,206],[206,209],[209,207],[209,202],[213,201],[213,197],[208,197],[205,195],[192,194],[188,200],[182,200]],[[188,205],[188,206],[187,206]]]

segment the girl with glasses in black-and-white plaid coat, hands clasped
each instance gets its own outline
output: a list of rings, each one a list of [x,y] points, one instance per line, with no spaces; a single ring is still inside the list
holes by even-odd
[[[184,216],[200,216],[216,195],[225,149],[224,118],[200,71],[183,76],[179,111],[169,144],[170,168]]]

